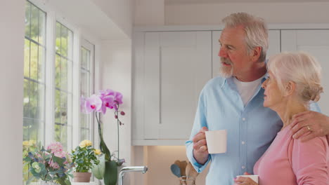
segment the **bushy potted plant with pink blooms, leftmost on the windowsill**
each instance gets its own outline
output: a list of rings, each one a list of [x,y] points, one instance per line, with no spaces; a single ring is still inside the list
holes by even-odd
[[[30,151],[23,157],[25,165],[30,167],[33,179],[41,179],[41,184],[70,185],[69,175],[73,166],[72,160],[60,142],[53,142],[46,149],[38,146],[36,151]]]

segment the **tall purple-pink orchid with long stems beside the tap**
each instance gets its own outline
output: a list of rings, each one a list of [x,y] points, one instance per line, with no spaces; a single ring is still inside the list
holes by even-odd
[[[124,163],[124,159],[120,159],[119,156],[119,126],[124,125],[120,121],[119,117],[120,115],[124,116],[125,114],[124,111],[119,110],[120,104],[122,104],[122,94],[109,89],[101,90],[97,95],[91,95],[91,97],[82,97],[81,100],[81,109],[84,114],[91,114],[92,112],[95,112],[96,121],[98,123],[98,135],[100,138],[99,147],[105,156],[104,160],[101,160],[101,163],[94,167],[93,174],[98,179],[104,178],[105,185],[115,185],[117,183],[117,167]],[[106,146],[103,139],[103,124],[101,122],[101,114],[105,114],[108,109],[114,110],[115,120],[117,121],[117,158],[115,155],[111,155],[110,150],[108,149],[108,146]],[[105,161],[105,164],[103,164],[102,161]],[[103,167],[105,167],[105,170],[100,169]],[[98,174],[96,174],[96,172]]]

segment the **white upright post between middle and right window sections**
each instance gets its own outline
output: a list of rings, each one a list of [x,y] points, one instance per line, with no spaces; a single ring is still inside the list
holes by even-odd
[[[73,74],[72,74],[72,144],[77,146],[79,144],[79,123],[80,123],[80,32],[75,29],[73,38]]]

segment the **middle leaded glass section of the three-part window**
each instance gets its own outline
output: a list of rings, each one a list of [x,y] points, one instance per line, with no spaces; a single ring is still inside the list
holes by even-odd
[[[72,146],[72,63],[73,32],[56,22],[55,59],[55,140],[63,144],[63,149]]]

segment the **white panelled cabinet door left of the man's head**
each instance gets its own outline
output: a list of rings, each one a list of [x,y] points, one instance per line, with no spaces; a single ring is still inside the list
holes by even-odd
[[[211,47],[211,32],[146,32],[143,139],[188,139]]]

